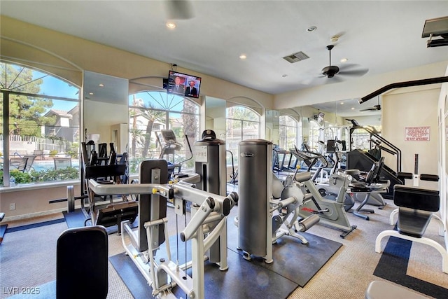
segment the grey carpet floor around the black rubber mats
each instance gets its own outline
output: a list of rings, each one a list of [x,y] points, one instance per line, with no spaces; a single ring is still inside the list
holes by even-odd
[[[343,245],[306,286],[296,288],[288,298],[364,298],[365,290],[370,281],[385,280],[373,273],[381,258],[381,254],[374,251],[375,238],[382,230],[393,229],[393,225],[388,224],[388,216],[395,207],[390,200],[387,200],[387,202],[388,204],[382,210],[374,207],[375,214],[370,215],[370,221],[348,214],[351,224],[357,225],[358,228],[345,239],[339,237],[339,230],[320,224],[314,225],[308,230],[310,234],[332,239]],[[235,214],[232,213],[232,215]],[[174,228],[176,218],[172,214],[169,217],[171,217],[169,223],[173,225],[170,226],[170,234],[173,234],[176,233]],[[228,225],[233,225],[231,217]],[[8,223],[8,228],[57,218],[63,218],[62,213],[45,218]],[[184,222],[183,218],[178,219],[179,230],[183,228]],[[14,295],[10,293],[11,288],[43,287],[55,280],[56,241],[59,234],[66,228],[66,223],[60,222],[6,233],[0,246],[0,298],[8,298]],[[430,223],[426,237],[435,239],[442,245],[444,244],[443,237],[438,235],[436,221]],[[383,247],[386,242],[387,238],[384,240]],[[297,244],[297,246],[300,246],[300,244]],[[118,253],[123,253],[123,251],[120,236],[117,234],[109,235],[109,256],[115,256]],[[285,257],[285,260],[288,263],[294,263],[294,260],[288,260],[288,257]],[[232,271],[232,269],[228,271]],[[416,277],[421,281],[428,281],[435,286],[441,286],[442,291],[448,289],[448,274],[442,273],[442,258],[430,246],[412,245],[406,275]],[[391,284],[395,284],[395,282],[392,281]],[[271,287],[274,288],[275,286]],[[39,297],[28,295],[27,298]],[[108,298],[133,298],[111,265],[109,266]],[[438,298],[442,297],[439,296]],[[448,293],[444,298],[448,298]]]

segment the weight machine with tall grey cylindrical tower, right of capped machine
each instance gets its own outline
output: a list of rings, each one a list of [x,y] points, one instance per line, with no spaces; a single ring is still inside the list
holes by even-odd
[[[235,225],[238,227],[238,249],[243,257],[264,258],[272,263],[272,244],[284,235],[308,241],[304,232],[319,221],[317,215],[299,217],[304,200],[301,190],[293,184],[283,188],[272,173],[272,142],[248,139],[239,142],[239,207]]]

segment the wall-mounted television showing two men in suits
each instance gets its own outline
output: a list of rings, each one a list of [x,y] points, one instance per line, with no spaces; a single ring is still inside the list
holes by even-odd
[[[167,93],[184,97],[199,97],[201,77],[169,71]]]

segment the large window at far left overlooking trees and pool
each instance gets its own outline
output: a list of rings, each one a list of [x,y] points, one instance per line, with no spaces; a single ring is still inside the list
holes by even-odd
[[[0,185],[78,179],[80,89],[17,64],[0,71]],[[71,167],[57,169],[58,158]]]

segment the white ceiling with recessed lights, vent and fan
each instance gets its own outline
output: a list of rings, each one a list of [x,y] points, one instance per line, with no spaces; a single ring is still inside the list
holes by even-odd
[[[274,95],[356,78],[321,76],[330,44],[335,44],[333,65],[368,70],[365,77],[448,60],[448,47],[426,48],[427,39],[421,38],[425,20],[448,15],[448,1],[189,4],[194,17],[175,20],[174,30],[165,26],[167,1],[1,0],[0,12]],[[311,26],[317,29],[307,32]],[[330,41],[335,35],[339,41]],[[310,58],[283,60],[298,51]],[[243,53],[246,60],[239,59]],[[343,64],[342,58],[349,61]]]

